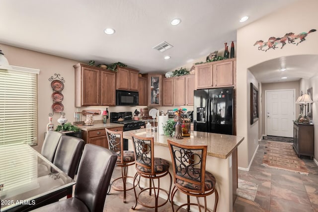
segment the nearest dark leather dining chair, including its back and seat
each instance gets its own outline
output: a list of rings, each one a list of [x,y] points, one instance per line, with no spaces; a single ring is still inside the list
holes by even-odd
[[[74,197],[32,212],[102,212],[116,160],[113,151],[86,144],[79,162]]]

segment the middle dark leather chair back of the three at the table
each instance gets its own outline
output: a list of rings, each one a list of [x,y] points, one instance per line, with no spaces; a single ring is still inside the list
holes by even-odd
[[[56,149],[53,161],[54,165],[73,179],[79,165],[84,144],[85,141],[82,139],[63,135]]]

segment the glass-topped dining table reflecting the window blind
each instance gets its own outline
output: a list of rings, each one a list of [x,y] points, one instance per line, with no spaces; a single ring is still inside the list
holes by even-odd
[[[0,143],[0,212],[30,211],[72,195],[74,179],[26,143]]]

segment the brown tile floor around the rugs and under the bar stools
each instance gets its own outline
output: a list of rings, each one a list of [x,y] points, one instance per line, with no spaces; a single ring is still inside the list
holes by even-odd
[[[318,166],[313,160],[304,159],[309,175],[262,166],[266,141],[259,141],[259,148],[250,170],[239,170],[239,179],[258,185],[255,200],[237,198],[234,212],[318,212]],[[120,176],[115,167],[113,178]],[[104,212],[133,212],[134,190],[127,192],[123,203],[123,192],[111,190],[105,201]],[[153,212],[138,205],[136,212]],[[160,207],[159,212],[172,212],[170,203]],[[184,210],[185,211],[185,210]]]

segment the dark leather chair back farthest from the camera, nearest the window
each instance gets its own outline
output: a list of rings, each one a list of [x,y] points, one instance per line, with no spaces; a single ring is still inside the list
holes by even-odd
[[[48,131],[45,136],[41,154],[52,163],[54,160],[56,148],[58,147],[62,135],[63,134],[59,132]]]

